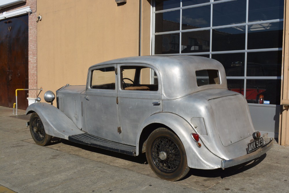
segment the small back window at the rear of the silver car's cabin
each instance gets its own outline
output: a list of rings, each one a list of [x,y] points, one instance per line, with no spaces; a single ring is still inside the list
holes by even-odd
[[[198,86],[220,84],[218,70],[197,70],[196,77]]]

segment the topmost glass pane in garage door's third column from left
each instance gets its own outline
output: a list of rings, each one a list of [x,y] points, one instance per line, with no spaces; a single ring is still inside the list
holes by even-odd
[[[245,23],[246,0],[213,4],[213,26]]]

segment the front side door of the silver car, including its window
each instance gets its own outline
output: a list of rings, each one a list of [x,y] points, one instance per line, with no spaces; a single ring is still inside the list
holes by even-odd
[[[118,131],[120,124],[115,68],[116,64],[111,64],[89,70],[83,130],[103,139],[123,143],[122,133]]]

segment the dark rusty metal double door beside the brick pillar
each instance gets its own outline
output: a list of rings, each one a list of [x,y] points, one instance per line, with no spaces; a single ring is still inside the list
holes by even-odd
[[[28,88],[28,15],[0,21],[0,106],[13,107],[20,88]],[[18,92],[19,109],[27,108],[27,93]]]

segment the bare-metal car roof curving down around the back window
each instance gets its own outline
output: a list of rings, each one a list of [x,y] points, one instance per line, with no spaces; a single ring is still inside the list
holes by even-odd
[[[157,71],[162,84],[163,99],[175,99],[181,96],[209,88],[226,88],[227,80],[223,65],[213,59],[189,55],[154,55],[125,57],[95,64],[90,68],[106,64],[149,64]],[[220,73],[221,84],[198,87],[197,70],[215,69]]]

